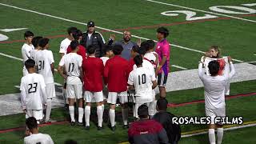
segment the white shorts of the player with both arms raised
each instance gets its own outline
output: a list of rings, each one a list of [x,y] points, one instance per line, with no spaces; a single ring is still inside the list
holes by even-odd
[[[206,116],[210,117],[210,123],[215,124],[214,119],[216,117],[226,117],[226,107],[218,109],[208,109],[206,108]]]

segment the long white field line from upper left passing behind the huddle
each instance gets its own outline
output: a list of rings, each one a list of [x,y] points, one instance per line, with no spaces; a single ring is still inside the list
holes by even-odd
[[[2,6],[7,6],[7,7],[11,7],[11,8],[14,8],[14,9],[18,9],[18,10],[24,10],[24,11],[28,11],[28,12],[31,12],[31,13],[34,13],[34,14],[40,14],[40,15],[44,15],[46,17],[50,17],[50,18],[57,18],[57,19],[60,19],[60,20],[63,20],[63,21],[66,21],[66,22],[73,22],[73,23],[78,23],[78,24],[81,24],[81,25],[85,25],[87,26],[86,23],[84,22],[77,22],[77,21],[73,21],[73,20],[70,20],[70,19],[67,19],[67,18],[60,18],[60,17],[57,17],[57,16],[54,16],[54,15],[50,15],[50,14],[43,14],[43,13],[40,13],[40,12],[37,12],[37,11],[34,11],[34,10],[27,10],[27,9],[23,9],[23,8],[20,8],[20,7],[17,7],[17,6],[10,6],[10,5],[6,5],[4,3],[1,3],[0,2],[0,5]],[[123,34],[122,32],[120,31],[116,31],[116,30],[110,30],[110,29],[106,29],[106,28],[103,28],[103,27],[100,27],[100,26],[95,26],[96,28],[98,29],[101,29],[101,30],[107,30],[107,31],[111,31],[113,33],[117,33],[117,34]],[[141,39],[144,39],[144,40],[149,40],[149,38],[143,38],[143,37],[139,37],[137,35],[132,35],[134,38],[141,38]],[[154,42],[158,42],[158,41],[155,41]],[[188,47],[185,47],[185,46],[178,46],[178,45],[175,45],[175,44],[171,44],[171,46],[176,46],[180,49],[184,49],[184,50],[190,50],[190,51],[194,51],[194,52],[198,52],[198,53],[202,53],[204,54],[205,52],[201,51],[201,50],[194,50],[194,49],[190,49]],[[234,60],[235,61],[235,60]],[[242,62],[242,61],[238,61],[238,62]]]

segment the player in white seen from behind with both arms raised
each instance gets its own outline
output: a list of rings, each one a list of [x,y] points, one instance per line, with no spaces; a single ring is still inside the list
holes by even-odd
[[[204,61],[205,58],[203,58]],[[209,62],[208,68],[210,75],[205,74],[205,69],[202,68],[204,62],[200,62],[198,66],[198,75],[202,80],[205,89],[205,105],[206,105],[206,116],[211,118],[211,124],[209,126],[209,140],[210,144],[215,142],[214,129],[217,128],[217,143],[222,143],[223,128],[222,125],[215,123],[216,117],[226,116],[226,104],[225,104],[225,87],[230,78],[234,76],[234,66],[232,59],[229,57],[230,62],[230,74],[229,75],[218,75],[219,63],[218,61]]]

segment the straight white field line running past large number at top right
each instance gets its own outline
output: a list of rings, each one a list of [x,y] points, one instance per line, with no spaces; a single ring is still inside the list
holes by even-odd
[[[211,11],[206,11],[206,10],[198,10],[198,9],[194,9],[194,8],[190,8],[190,7],[186,7],[186,6],[178,6],[178,5],[174,5],[171,3],[166,3],[166,2],[158,2],[158,1],[153,1],[153,0],[145,0],[147,2],[154,2],[154,3],[158,3],[158,4],[162,4],[162,5],[167,5],[167,6],[175,6],[175,7],[180,7],[182,9],[187,9],[187,10],[195,10],[195,11],[200,11],[200,12],[204,12],[204,13],[208,13],[208,14],[215,14],[215,15],[220,15],[220,16],[224,16],[224,17],[229,17],[229,18],[235,18],[235,19],[239,19],[242,21],[248,21],[248,22],[256,22],[250,19],[246,19],[246,18],[238,18],[238,17],[234,17],[231,15],[226,15],[226,14],[218,14],[218,13],[214,13]]]

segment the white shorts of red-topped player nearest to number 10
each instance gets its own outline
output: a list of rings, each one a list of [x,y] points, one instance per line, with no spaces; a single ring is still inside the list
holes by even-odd
[[[119,102],[122,104],[128,102],[127,91],[123,91],[121,93],[109,92],[107,102],[114,105],[117,103],[118,98]]]

